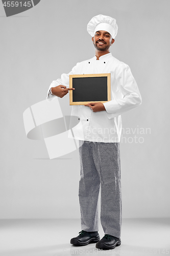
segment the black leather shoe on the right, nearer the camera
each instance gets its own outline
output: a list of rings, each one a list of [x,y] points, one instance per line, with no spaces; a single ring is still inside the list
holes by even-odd
[[[98,249],[114,249],[116,246],[119,246],[121,244],[120,238],[116,238],[113,236],[110,236],[110,234],[105,234],[105,236],[96,243],[95,247]]]

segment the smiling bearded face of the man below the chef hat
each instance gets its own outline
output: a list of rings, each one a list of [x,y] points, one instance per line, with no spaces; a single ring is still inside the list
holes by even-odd
[[[107,51],[110,46],[113,44],[114,39],[111,35],[104,30],[99,30],[95,32],[94,37],[92,37],[94,47],[98,51]]]

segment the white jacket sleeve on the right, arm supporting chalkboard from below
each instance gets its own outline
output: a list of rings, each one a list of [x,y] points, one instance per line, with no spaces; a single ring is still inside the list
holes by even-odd
[[[115,78],[111,89],[112,100],[105,102],[104,106],[108,118],[114,118],[141,104],[141,95],[136,81],[128,65],[120,62],[115,71]]]

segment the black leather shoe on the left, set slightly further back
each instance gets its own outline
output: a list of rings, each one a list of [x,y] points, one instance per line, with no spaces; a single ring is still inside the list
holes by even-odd
[[[100,236],[98,231],[95,232],[87,232],[87,231],[80,231],[79,236],[76,238],[72,238],[70,240],[70,244],[74,245],[87,245],[89,243],[96,243],[100,241]]]

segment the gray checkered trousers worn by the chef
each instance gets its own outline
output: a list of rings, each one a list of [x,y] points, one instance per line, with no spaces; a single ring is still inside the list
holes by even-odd
[[[119,143],[84,141],[79,153],[81,228],[89,232],[99,230],[98,198],[101,187],[103,230],[105,234],[120,238],[122,194]]]

